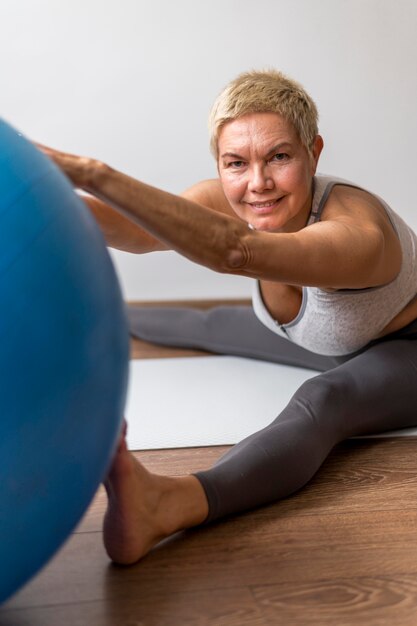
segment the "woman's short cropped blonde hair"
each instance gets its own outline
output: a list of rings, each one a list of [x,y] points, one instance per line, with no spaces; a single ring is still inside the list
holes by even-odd
[[[218,159],[224,124],[248,113],[278,113],[291,122],[311,153],[318,134],[317,107],[305,89],[277,70],[250,71],[232,80],[217,96],[209,116],[210,149]]]

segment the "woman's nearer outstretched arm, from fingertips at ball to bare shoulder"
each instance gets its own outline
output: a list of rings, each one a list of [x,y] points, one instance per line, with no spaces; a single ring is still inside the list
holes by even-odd
[[[75,186],[167,248],[218,272],[294,285],[362,288],[387,283],[399,271],[401,251],[391,227],[361,196],[340,193],[331,219],[299,232],[255,232],[227,211],[161,191],[99,161],[55,151],[49,155]]]

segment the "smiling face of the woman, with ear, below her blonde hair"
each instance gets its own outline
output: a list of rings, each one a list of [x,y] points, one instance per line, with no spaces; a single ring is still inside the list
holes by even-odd
[[[323,147],[309,154],[277,113],[250,113],[220,130],[218,170],[235,213],[256,230],[295,232],[306,225],[312,178]]]

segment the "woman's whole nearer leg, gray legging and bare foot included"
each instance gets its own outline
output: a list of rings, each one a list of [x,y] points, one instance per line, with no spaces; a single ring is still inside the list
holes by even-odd
[[[347,437],[416,423],[417,341],[395,340],[304,383],[270,426],[195,476],[151,474],[122,441],[106,481],[107,551],[133,563],[180,529],[293,493]]]

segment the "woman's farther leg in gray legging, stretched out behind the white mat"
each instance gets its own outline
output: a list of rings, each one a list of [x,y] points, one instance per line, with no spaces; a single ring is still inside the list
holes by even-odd
[[[130,332],[139,339],[217,354],[243,356],[319,372],[348,357],[327,357],[276,335],[251,306],[219,306],[206,311],[186,307],[128,307]]]

